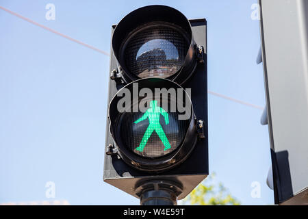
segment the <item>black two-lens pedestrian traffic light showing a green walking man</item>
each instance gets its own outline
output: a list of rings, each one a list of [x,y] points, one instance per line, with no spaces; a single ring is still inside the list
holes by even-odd
[[[164,5],[112,26],[103,180],[142,205],[175,204],[208,175],[206,27]]]

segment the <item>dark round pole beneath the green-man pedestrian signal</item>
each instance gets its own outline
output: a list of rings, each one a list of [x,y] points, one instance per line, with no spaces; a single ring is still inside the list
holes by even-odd
[[[181,185],[173,181],[144,181],[136,188],[140,205],[177,205],[177,196],[183,192]]]

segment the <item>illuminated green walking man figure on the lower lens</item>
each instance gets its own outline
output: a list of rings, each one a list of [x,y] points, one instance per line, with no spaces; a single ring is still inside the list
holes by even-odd
[[[162,108],[162,107],[157,107],[157,101],[151,101],[150,102],[150,108],[146,110],[146,112],[143,114],[141,118],[136,120],[133,123],[140,123],[141,121],[145,120],[146,118],[149,118],[150,125],[146,129],[146,132],[144,133],[144,136],[140,142],[140,145],[136,148],[137,151],[143,151],[144,146],[146,146],[146,142],[148,142],[149,138],[151,137],[153,131],[157,133],[159,136],[160,140],[162,140],[165,149],[164,151],[168,150],[171,148],[168,138],[162,129],[162,125],[159,123],[159,116],[162,114],[165,118],[165,123],[166,125],[169,124],[169,116],[168,113]]]

